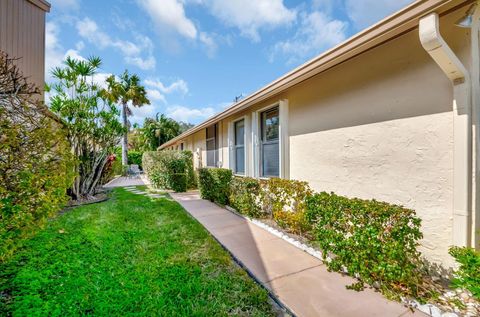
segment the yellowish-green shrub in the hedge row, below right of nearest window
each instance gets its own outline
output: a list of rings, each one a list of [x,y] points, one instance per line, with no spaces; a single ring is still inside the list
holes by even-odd
[[[264,212],[283,229],[305,234],[311,226],[305,219],[305,199],[312,195],[307,182],[270,178],[263,186],[261,200]]]

